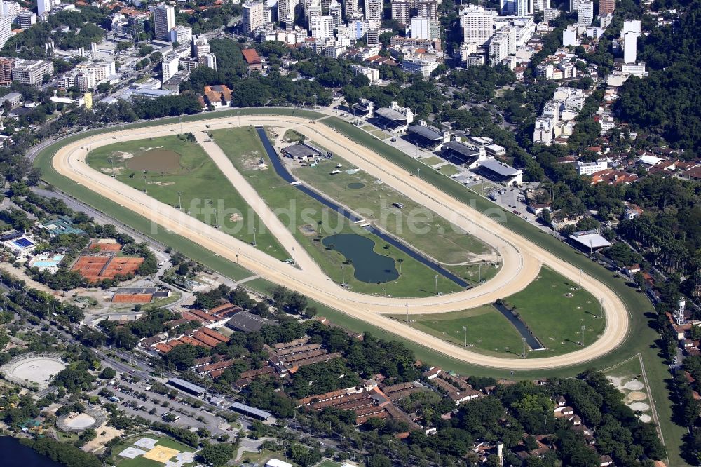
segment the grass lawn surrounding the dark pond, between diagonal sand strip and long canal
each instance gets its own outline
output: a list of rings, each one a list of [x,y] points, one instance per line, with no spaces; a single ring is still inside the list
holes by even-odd
[[[254,128],[215,130],[212,134],[215,142],[219,144],[233,165],[271,208],[289,210],[291,216],[281,212],[278,214],[280,219],[290,226],[295,238],[329,277],[337,283],[343,283],[341,264],[346,258],[335,250],[325,248],[322,238],[327,234],[353,232],[348,220],[280,178],[271,167]],[[267,170],[255,168],[257,165],[255,162],[259,157],[267,161]],[[395,267],[401,271],[400,277],[381,284],[365,283],[355,279],[352,265],[346,265],[344,266],[345,279],[351,290],[367,294],[384,294],[386,291],[388,295],[394,297],[417,297],[435,293],[433,288],[435,272],[432,269],[407,257],[393,246],[384,248],[386,245],[380,243],[376,236],[368,235],[367,238],[375,242],[373,250],[376,253],[395,259]],[[400,258],[401,263],[397,261]],[[444,293],[460,289],[458,285],[443,276],[438,278],[438,287]]]

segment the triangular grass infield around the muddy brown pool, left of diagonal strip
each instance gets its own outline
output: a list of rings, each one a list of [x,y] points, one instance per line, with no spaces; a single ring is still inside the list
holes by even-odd
[[[146,157],[153,154],[149,150],[154,148],[174,151],[179,154],[179,160],[171,161],[175,163],[170,165],[164,161],[162,170],[134,170],[133,165],[130,167],[132,161],[143,158],[144,154]],[[177,207],[180,193],[185,212],[202,222],[236,231],[232,235],[247,243],[253,242],[253,227],[256,226],[259,231],[256,241],[261,250],[278,259],[290,257],[268,229],[261,228],[261,220],[197,143],[177,136],[119,142],[96,148],[88,154],[86,162],[108,174],[112,173],[114,164],[117,180],[146,191],[149,196],[168,205]]]

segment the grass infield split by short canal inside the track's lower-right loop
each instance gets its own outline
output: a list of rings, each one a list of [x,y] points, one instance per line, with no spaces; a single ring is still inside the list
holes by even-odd
[[[529,352],[527,358],[576,351],[580,348],[582,325],[586,326],[585,346],[598,339],[604,330],[604,319],[597,315],[599,302],[589,292],[578,290],[576,285],[551,269],[541,269],[537,280],[503,301],[516,309],[531,332],[546,347],[545,350]],[[406,316],[398,313],[391,316],[406,320]],[[451,313],[415,315],[410,317],[410,324],[459,346],[465,345],[465,326],[471,350],[488,355],[522,356],[521,335],[491,305]]]

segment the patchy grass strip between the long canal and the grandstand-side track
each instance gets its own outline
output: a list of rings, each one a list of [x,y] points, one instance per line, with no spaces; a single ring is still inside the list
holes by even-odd
[[[343,165],[341,173],[329,175],[339,163]],[[315,189],[360,213],[381,229],[402,238],[409,245],[444,264],[468,262],[473,255],[491,250],[482,241],[466,234],[446,219],[388,187],[367,172],[361,170],[349,175],[345,169],[350,167],[345,159],[334,156],[331,160],[322,160],[314,167],[303,167],[294,162],[292,172]],[[404,207],[396,208],[393,203],[401,203]],[[451,271],[462,273],[461,268],[456,269]]]

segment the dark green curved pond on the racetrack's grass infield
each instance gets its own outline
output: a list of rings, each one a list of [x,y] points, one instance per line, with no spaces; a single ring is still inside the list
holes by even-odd
[[[395,260],[375,252],[375,242],[367,237],[335,234],[327,236],[321,243],[351,260],[355,270],[353,276],[361,282],[379,284],[399,277]]]

